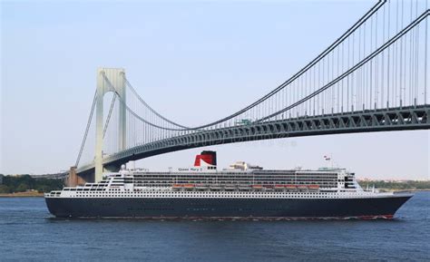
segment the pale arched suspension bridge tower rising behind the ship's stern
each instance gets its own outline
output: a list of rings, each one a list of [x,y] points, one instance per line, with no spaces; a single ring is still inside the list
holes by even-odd
[[[119,103],[118,124],[118,149],[126,148],[126,109],[125,102],[125,79],[122,68],[98,68],[97,69],[97,96],[95,104],[95,175],[94,181],[103,179],[103,98],[107,92],[116,92],[122,98]]]

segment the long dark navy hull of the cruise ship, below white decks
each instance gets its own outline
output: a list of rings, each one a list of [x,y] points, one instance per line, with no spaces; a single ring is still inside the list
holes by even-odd
[[[411,195],[360,199],[46,198],[57,218],[393,218]]]

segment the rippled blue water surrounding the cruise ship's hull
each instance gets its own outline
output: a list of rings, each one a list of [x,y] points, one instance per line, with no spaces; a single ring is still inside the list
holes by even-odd
[[[56,219],[42,198],[0,198],[0,261],[430,261],[430,192],[395,220]]]

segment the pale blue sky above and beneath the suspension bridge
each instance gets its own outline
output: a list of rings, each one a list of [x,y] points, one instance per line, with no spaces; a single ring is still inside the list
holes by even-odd
[[[374,1],[2,2],[0,173],[73,165],[97,67],[125,68],[142,97],[197,125],[236,112],[296,73]],[[209,107],[207,113],[198,112]],[[317,168],[331,154],[361,178],[428,179],[429,131],[222,145],[221,166]],[[138,164],[191,165],[200,149]]]

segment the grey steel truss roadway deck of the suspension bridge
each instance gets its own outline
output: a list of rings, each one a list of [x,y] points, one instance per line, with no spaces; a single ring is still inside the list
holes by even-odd
[[[430,105],[396,107],[264,121],[207,131],[194,131],[161,141],[153,141],[122,150],[103,158],[106,170],[116,171],[129,160],[141,160],[162,153],[241,141],[259,141],[288,137],[369,131],[430,129]],[[91,176],[94,163],[76,170],[79,176]]]

